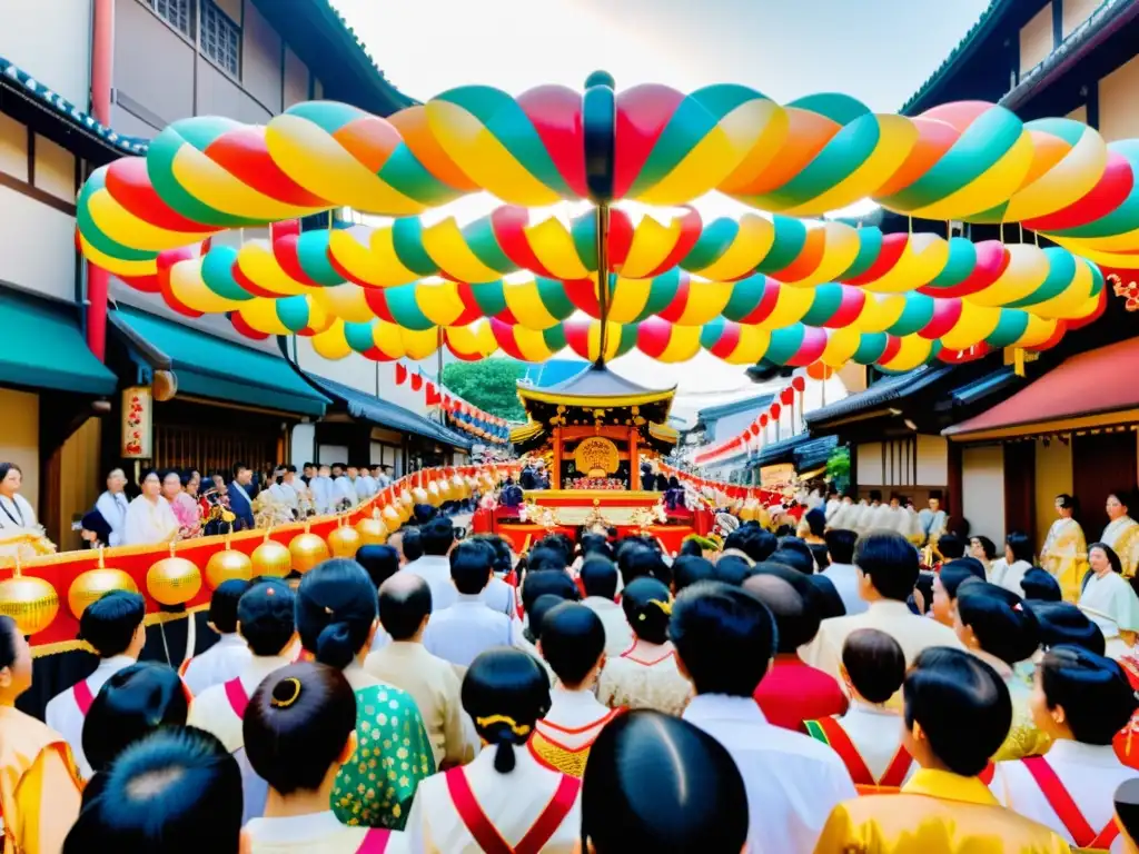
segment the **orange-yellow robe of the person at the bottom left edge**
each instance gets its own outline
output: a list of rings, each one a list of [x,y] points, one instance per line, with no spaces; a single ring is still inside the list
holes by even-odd
[[[55,854],[79,818],[79,769],[67,742],[31,715],[0,706],[3,854]]]

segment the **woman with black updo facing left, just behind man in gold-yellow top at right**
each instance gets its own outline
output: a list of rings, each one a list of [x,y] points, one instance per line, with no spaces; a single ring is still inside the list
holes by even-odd
[[[957,591],[957,637],[973,655],[992,667],[1008,688],[1013,723],[993,761],[1019,759],[1048,750],[1048,734],[1033,722],[1032,685],[1017,673],[1040,647],[1040,626],[1016,593],[983,581],[968,581]]]

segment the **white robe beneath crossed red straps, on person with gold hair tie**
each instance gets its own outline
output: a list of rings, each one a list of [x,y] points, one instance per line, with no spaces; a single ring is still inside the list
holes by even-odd
[[[514,770],[494,770],[498,748],[484,749],[464,765],[467,785],[486,818],[509,846],[517,845],[546,810],[563,774],[542,765],[525,745],[514,748]],[[482,854],[467,830],[448,790],[446,775],[435,774],[419,783],[404,834],[415,854]],[[544,854],[571,854],[581,837],[581,798],[542,846]]]

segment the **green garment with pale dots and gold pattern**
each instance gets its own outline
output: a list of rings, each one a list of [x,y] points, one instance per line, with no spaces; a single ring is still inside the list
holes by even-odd
[[[333,812],[344,824],[402,830],[416,787],[435,773],[419,708],[392,685],[355,692],[357,750],[333,787]]]

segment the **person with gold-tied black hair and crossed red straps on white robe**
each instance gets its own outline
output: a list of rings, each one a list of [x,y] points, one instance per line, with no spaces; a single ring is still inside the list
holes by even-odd
[[[408,821],[410,849],[573,852],[581,781],[526,748],[550,708],[542,668],[517,649],[486,650],[462,680],[462,707],[486,747],[474,762],[420,783]]]

